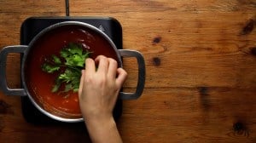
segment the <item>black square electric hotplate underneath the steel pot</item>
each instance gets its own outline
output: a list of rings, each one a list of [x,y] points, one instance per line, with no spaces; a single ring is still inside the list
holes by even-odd
[[[113,18],[106,17],[32,17],[25,20],[20,28],[20,44],[28,45],[32,38],[44,28],[63,21],[80,21],[96,26],[105,32],[113,40],[118,49],[122,49],[122,28],[119,22]],[[103,47],[102,47],[103,49]],[[22,57],[22,54],[21,54]],[[28,123],[61,123],[44,115],[32,105],[28,97],[21,97],[21,108],[23,116]],[[117,120],[122,114],[122,100],[117,100],[113,110],[113,117]]]

